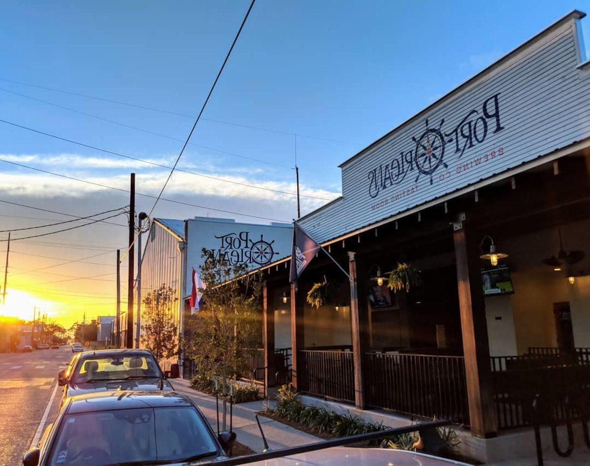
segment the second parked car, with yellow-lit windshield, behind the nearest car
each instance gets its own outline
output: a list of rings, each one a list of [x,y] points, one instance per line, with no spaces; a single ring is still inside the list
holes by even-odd
[[[173,390],[156,358],[148,350],[99,350],[78,353],[58,373],[62,403],[70,396],[113,390]]]

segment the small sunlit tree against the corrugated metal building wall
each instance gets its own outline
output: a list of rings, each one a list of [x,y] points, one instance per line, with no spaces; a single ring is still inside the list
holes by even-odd
[[[158,363],[178,353],[178,326],[174,317],[177,299],[176,291],[166,285],[143,298],[141,342],[152,351]]]

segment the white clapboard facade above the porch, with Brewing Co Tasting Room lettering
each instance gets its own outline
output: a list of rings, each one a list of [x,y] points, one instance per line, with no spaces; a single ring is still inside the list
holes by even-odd
[[[341,165],[342,198],[300,219],[319,242],[590,138],[578,13]]]

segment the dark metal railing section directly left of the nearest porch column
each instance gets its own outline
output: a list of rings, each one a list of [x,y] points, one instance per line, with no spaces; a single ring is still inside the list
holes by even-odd
[[[369,405],[469,425],[463,357],[365,353],[364,362]]]

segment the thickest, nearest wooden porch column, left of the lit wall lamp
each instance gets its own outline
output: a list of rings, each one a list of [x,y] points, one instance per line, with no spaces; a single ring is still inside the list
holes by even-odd
[[[453,224],[453,239],[471,433],[489,438],[496,436],[497,420],[491,390],[490,346],[481,285],[479,242],[464,215],[461,217],[463,220]]]

